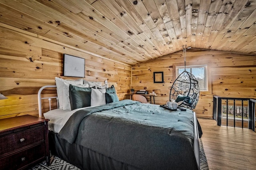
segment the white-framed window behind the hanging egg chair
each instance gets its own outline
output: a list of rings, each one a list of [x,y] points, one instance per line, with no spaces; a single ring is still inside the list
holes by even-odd
[[[184,68],[184,66],[176,67],[176,77],[178,77],[184,71]],[[186,66],[186,71],[190,72],[196,77],[200,91],[208,91],[207,65]]]

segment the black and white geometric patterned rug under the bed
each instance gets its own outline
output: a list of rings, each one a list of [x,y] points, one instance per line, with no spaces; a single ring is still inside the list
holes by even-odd
[[[200,170],[209,170],[206,156],[204,154],[204,147],[202,140],[200,140]],[[46,166],[46,162],[42,162],[29,170],[80,170],[76,166],[52,155],[50,158],[50,165]]]

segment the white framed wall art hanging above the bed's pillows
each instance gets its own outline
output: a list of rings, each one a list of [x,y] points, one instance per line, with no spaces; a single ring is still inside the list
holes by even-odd
[[[70,77],[84,77],[85,59],[73,55],[63,56],[63,75]]]

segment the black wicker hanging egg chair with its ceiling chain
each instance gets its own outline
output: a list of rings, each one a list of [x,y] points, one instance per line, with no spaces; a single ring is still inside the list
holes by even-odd
[[[184,71],[174,81],[170,89],[170,101],[176,101],[179,107],[195,109],[200,89],[196,77],[186,71],[186,45],[182,46],[184,53]]]

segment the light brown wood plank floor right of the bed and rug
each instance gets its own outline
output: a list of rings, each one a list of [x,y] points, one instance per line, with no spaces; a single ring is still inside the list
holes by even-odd
[[[249,129],[217,126],[198,119],[210,170],[256,170],[256,133]]]

